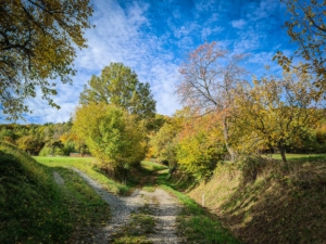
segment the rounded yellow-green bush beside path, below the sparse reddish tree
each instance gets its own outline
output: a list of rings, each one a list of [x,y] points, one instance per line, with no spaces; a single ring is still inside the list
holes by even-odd
[[[222,126],[216,113],[185,119],[176,141],[176,160],[196,180],[210,177],[226,153]]]

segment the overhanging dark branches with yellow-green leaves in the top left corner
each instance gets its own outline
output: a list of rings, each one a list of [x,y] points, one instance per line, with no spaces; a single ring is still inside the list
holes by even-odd
[[[42,92],[59,105],[55,79],[72,82],[76,48],[85,48],[89,0],[2,0],[0,2],[0,105],[9,119],[29,112],[26,98]]]

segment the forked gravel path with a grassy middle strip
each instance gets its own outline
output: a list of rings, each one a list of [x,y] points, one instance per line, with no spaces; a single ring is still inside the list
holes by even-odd
[[[179,243],[180,239],[176,235],[176,217],[180,206],[177,201],[166,191],[155,188],[153,192],[136,189],[130,196],[118,197],[105,191],[98,182],[89,178],[83,171],[76,171],[102,198],[112,210],[111,221],[103,227],[90,243],[110,243],[113,233],[120,231],[130,221],[130,214],[138,208],[147,206],[151,209],[155,218],[154,232],[148,240],[152,243]],[[151,179],[152,181],[152,179]]]

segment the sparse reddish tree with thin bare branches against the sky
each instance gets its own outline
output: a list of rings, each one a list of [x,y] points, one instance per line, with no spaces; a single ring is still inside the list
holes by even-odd
[[[189,53],[188,62],[179,69],[181,82],[177,92],[181,102],[196,114],[220,114],[225,145],[231,159],[235,151],[229,144],[234,90],[244,69],[239,66],[243,55],[229,56],[226,50],[218,49],[216,42],[204,43]]]

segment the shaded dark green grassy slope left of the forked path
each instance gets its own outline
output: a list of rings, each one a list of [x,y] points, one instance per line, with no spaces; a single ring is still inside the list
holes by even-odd
[[[75,243],[110,218],[108,205],[74,172],[39,165],[0,143],[0,243]]]

